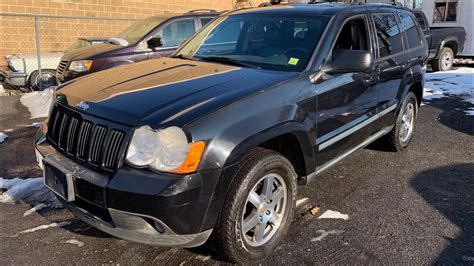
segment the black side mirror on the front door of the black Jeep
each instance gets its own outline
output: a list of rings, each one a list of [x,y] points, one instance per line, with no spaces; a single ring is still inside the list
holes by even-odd
[[[374,68],[372,53],[364,50],[336,50],[331,63],[323,69],[328,74],[365,72]]]

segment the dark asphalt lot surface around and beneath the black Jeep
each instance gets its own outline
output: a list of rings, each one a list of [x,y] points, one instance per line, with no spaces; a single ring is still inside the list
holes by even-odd
[[[421,107],[411,146],[358,151],[311,184],[300,187],[313,216],[299,214],[266,264],[474,265],[474,116],[470,106],[444,98]],[[38,120],[34,120],[38,121]],[[34,122],[17,96],[0,97],[0,177],[41,175],[32,147]],[[25,203],[0,204],[0,264],[219,264],[207,246],[158,248],[110,237],[65,210],[30,216]],[[348,220],[318,219],[326,210]],[[54,222],[63,228],[19,233]]]

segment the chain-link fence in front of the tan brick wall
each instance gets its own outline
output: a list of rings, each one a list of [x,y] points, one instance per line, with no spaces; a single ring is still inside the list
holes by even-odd
[[[65,52],[106,42],[137,20],[0,13],[3,87],[31,91],[53,86]]]

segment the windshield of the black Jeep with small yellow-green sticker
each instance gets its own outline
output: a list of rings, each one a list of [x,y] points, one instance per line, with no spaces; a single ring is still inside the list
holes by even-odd
[[[302,71],[328,21],[326,16],[222,16],[182,46],[175,56]]]

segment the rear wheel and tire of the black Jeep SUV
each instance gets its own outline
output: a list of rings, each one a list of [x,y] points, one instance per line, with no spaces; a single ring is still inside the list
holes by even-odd
[[[392,131],[382,141],[391,151],[402,151],[408,147],[415,131],[415,121],[418,115],[418,103],[413,92],[409,92],[398,113],[397,121]]]

